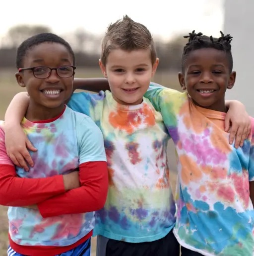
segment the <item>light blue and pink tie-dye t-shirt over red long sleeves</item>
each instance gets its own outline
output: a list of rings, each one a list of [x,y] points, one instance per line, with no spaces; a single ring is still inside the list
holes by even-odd
[[[82,163],[106,161],[101,131],[90,117],[68,107],[53,122],[32,123],[24,118],[22,127],[38,151],[30,152],[34,167],[29,172],[16,168],[21,178],[49,177],[67,173]],[[101,147],[87,147],[94,142]],[[7,156],[1,155],[0,164],[13,165]],[[93,212],[43,218],[38,210],[9,207],[8,220],[11,240],[23,246],[72,245],[94,228]]]

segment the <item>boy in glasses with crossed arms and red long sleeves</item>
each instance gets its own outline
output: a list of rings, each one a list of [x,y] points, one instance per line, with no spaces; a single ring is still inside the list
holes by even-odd
[[[8,256],[90,256],[94,211],[104,206],[108,171],[100,129],[64,104],[72,93],[74,62],[69,44],[51,33],[30,37],[17,50],[16,80],[30,97],[22,129],[38,151],[31,153],[29,172],[15,169],[0,123]]]

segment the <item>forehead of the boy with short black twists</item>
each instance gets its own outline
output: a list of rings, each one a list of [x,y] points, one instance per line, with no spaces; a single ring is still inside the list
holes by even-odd
[[[227,54],[213,48],[202,48],[191,51],[186,59],[185,66],[190,65],[223,65],[229,67]]]

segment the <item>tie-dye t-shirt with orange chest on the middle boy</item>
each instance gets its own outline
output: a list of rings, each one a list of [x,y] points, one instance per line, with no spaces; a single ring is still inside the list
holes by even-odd
[[[175,202],[161,114],[148,99],[120,105],[110,91],[74,93],[68,106],[91,116],[104,137],[109,191],[95,214],[94,234],[133,243],[166,236],[175,224]]]

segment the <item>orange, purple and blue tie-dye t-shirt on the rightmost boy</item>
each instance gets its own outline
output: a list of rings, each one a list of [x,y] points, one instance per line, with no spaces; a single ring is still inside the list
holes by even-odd
[[[207,256],[253,256],[254,130],[235,149],[224,131],[225,113],[198,107],[187,93],[168,88],[151,87],[145,96],[161,111],[176,145],[179,243]]]

